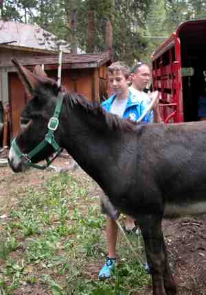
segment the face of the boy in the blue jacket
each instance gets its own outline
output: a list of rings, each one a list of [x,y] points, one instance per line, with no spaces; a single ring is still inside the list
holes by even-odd
[[[121,71],[108,73],[108,83],[114,93],[122,94],[128,89],[128,81]]]

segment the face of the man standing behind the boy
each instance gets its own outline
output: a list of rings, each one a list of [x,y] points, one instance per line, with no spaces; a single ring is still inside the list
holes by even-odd
[[[137,88],[139,91],[143,91],[146,88],[148,82],[150,82],[151,73],[150,68],[143,64],[139,69],[137,69],[136,73],[131,75],[133,86]]]

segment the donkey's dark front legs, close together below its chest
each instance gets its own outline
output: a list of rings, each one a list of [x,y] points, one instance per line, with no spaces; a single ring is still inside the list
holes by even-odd
[[[159,215],[137,217],[152,275],[153,295],[174,295],[176,287],[165,252],[161,220]]]

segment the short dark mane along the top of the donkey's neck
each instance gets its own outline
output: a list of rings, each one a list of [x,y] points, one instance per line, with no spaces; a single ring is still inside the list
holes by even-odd
[[[98,117],[98,119],[104,121],[109,130],[122,130],[122,131],[134,131],[137,123],[130,119],[121,119],[117,115],[106,112],[102,108],[100,102],[90,101],[84,95],[77,93],[67,92],[65,95],[66,103],[71,108],[79,106],[82,110],[86,111],[90,115]]]

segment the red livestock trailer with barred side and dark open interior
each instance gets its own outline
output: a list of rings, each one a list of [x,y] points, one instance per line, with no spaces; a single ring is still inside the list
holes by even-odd
[[[206,19],[186,21],[152,55],[153,88],[161,92],[165,123],[201,119],[198,107],[206,106],[205,36]]]

